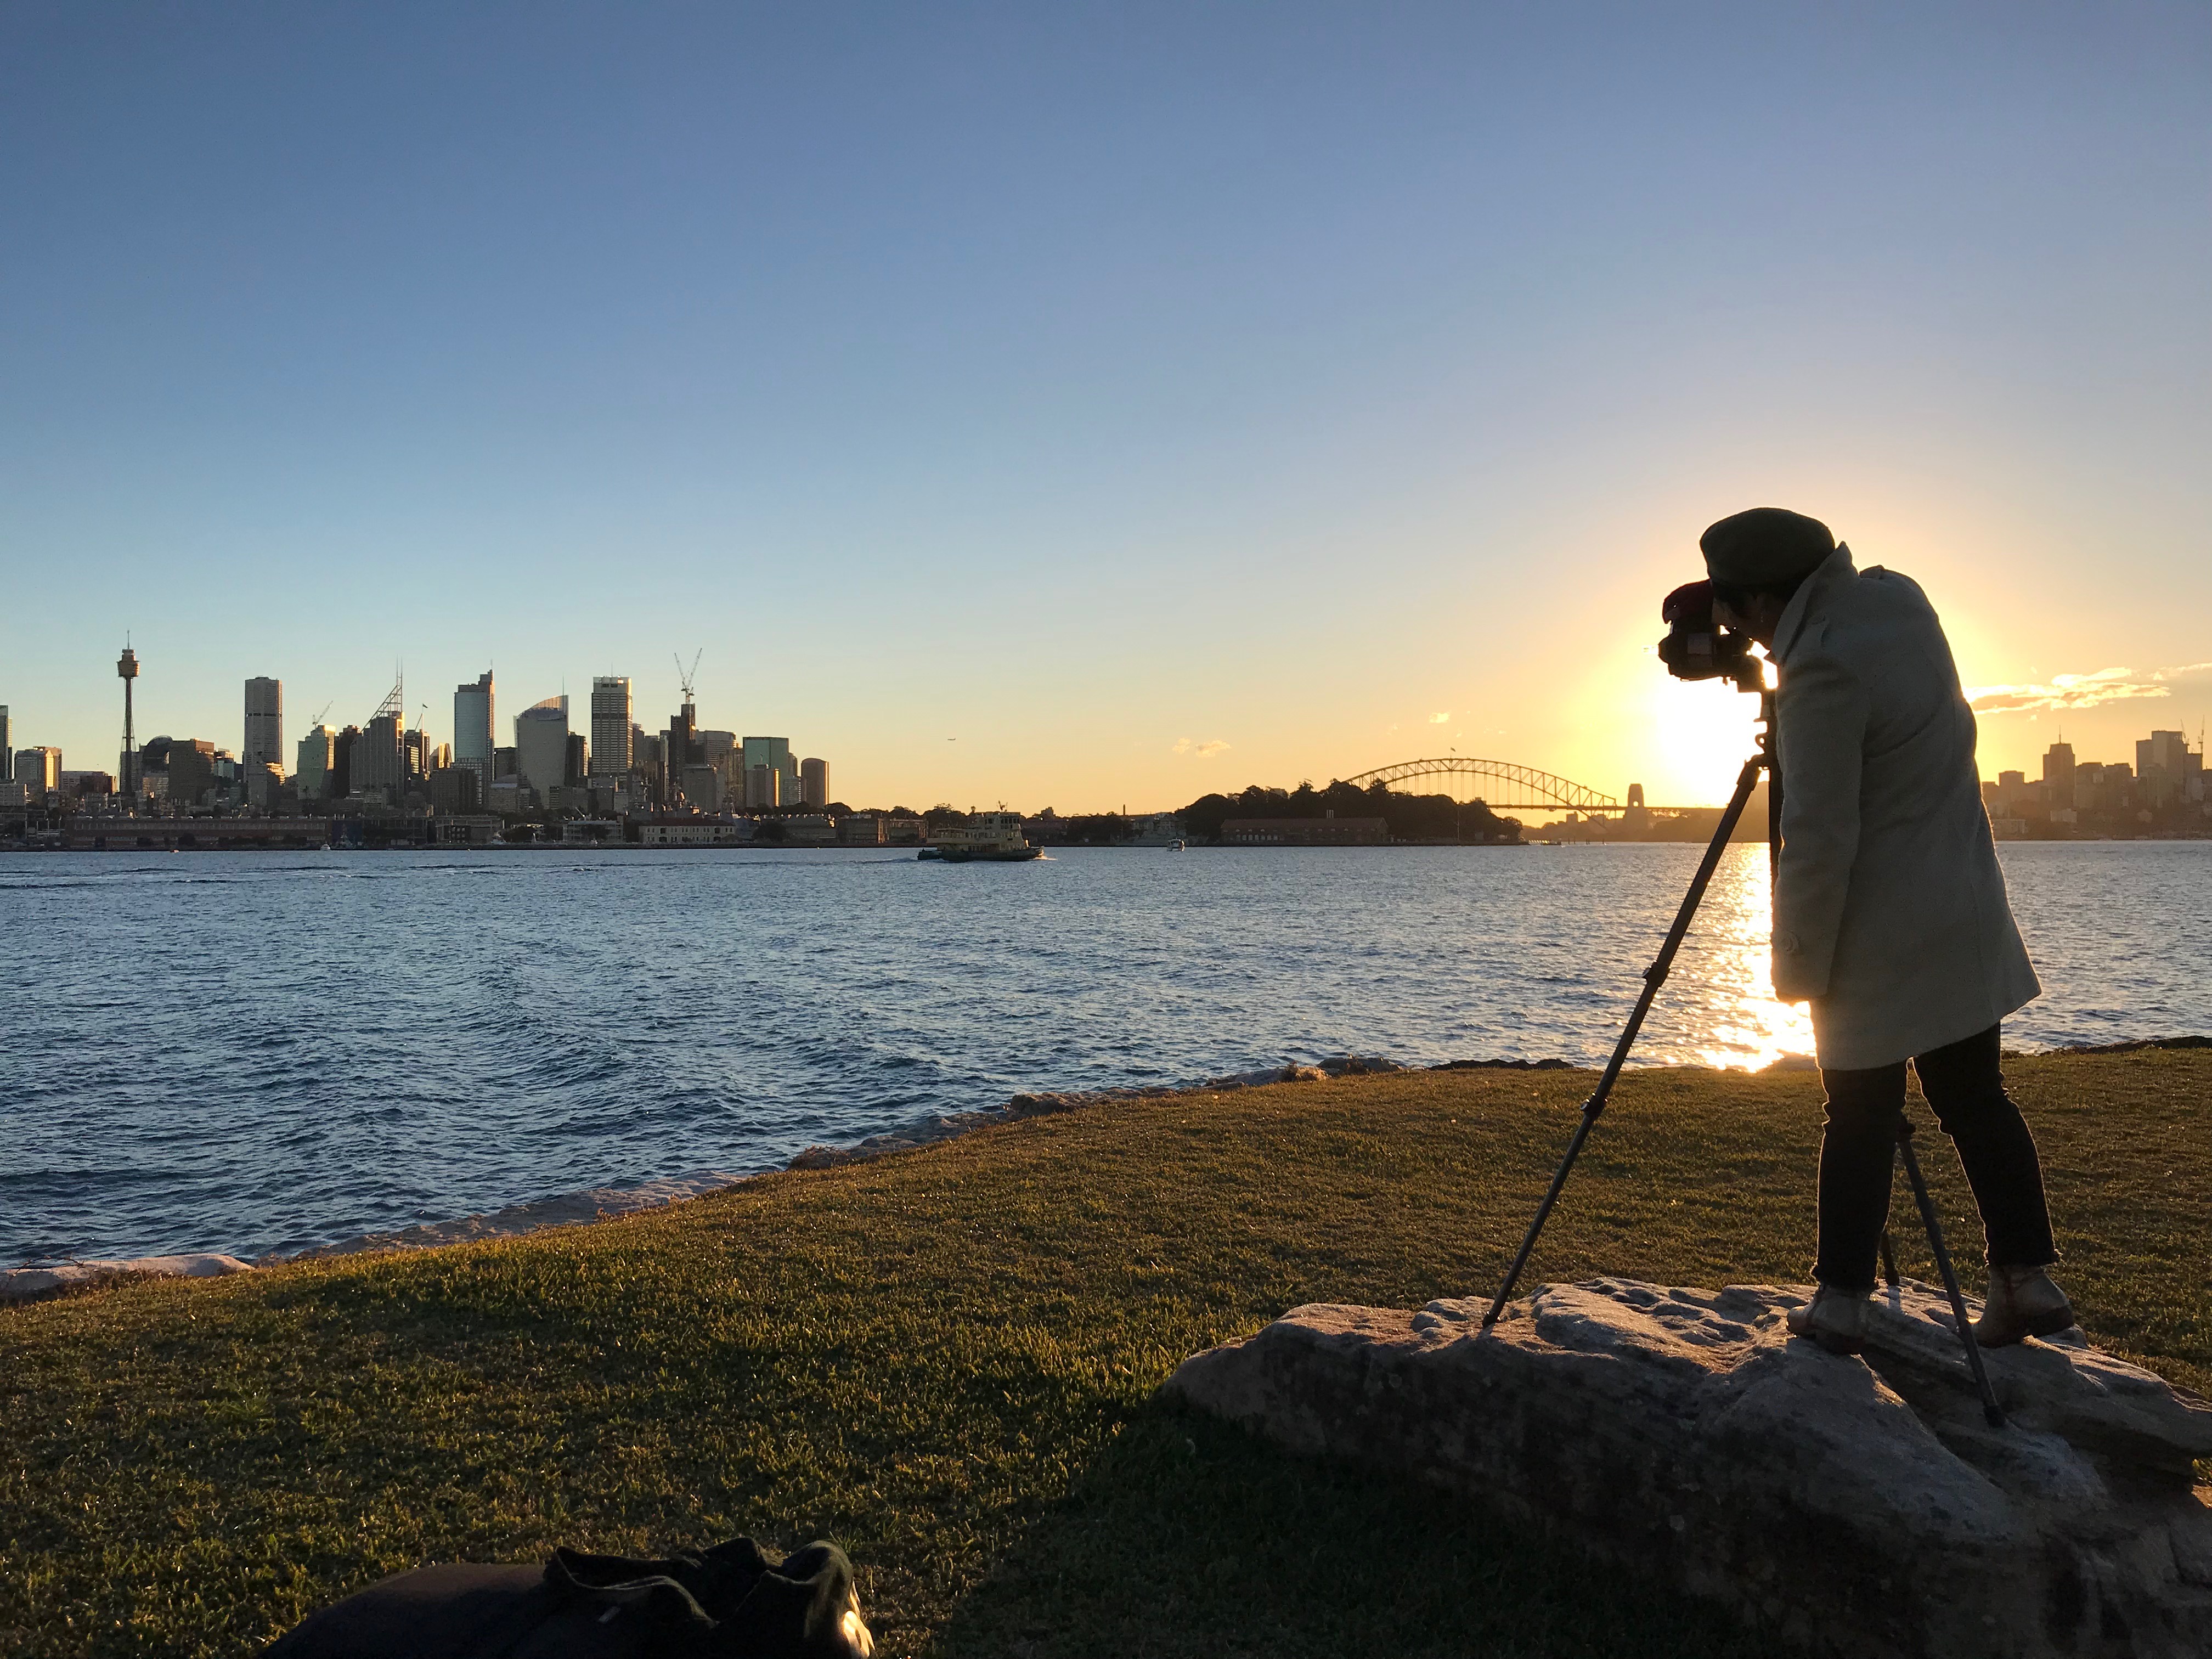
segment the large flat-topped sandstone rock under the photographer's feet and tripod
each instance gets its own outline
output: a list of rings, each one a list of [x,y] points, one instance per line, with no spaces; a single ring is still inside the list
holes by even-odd
[[[2212,1405],[2086,1345],[1986,1356],[1940,1292],[1867,1354],[1790,1340],[1809,1292],[1544,1285],[1294,1307],[1166,1389],[1283,1447],[1409,1473],[1652,1568],[1832,1655],[2205,1659]]]

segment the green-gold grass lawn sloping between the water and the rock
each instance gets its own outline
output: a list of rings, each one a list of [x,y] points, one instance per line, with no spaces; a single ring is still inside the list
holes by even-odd
[[[2212,1391],[2212,1053],[2011,1077],[2090,1336]],[[1759,1652],[1150,1398],[1296,1303],[1489,1292],[1588,1086],[1175,1095],[593,1228],[0,1310],[0,1652],[248,1655],[420,1562],[730,1533],[838,1540],[891,1655]],[[1814,1075],[1630,1073],[1531,1283],[1805,1279],[1816,1126]],[[1949,1150],[1924,1164],[1978,1267]],[[1933,1276],[1902,1192],[1896,1219]]]

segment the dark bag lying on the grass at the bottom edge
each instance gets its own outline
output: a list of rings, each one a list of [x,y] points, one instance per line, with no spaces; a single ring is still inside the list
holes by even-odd
[[[323,1608],[263,1659],[869,1659],[852,1562],[750,1537],[666,1562],[557,1548],[535,1566],[422,1566]]]

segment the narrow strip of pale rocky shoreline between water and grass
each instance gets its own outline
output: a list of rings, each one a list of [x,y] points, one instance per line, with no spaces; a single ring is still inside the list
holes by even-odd
[[[2077,1048],[2053,1048],[2053,1055],[2117,1055],[2141,1048],[2212,1048],[2212,1037],[2143,1037],[2137,1042],[2088,1044]],[[1259,1071],[1241,1071],[1225,1077],[1208,1077],[1194,1084],[1152,1084],[1146,1088],[1099,1088],[1015,1095],[1004,1106],[973,1113],[940,1113],[918,1117],[900,1128],[869,1135],[852,1146],[810,1146],[783,1164],[783,1170],[827,1170],[841,1164],[911,1152],[918,1146],[933,1146],[978,1128],[1018,1124],[1026,1117],[1051,1117],[1086,1106],[1104,1106],[1117,1099],[1157,1099],[1161,1095],[1225,1093],[1232,1088],[1263,1088],[1267,1084],[1323,1082],[1327,1077],[1383,1075],[1400,1071],[1575,1071],[1568,1060],[1447,1060],[1436,1066],[1405,1066],[1380,1055],[1336,1055],[1312,1066],[1285,1064]],[[1812,1068],[1805,1055],[1785,1055],[1776,1062],[1781,1071]],[[131,1261],[58,1261],[51,1265],[0,1270],[0,1303],[33,1301],[62,1294],[91,1283],[115,1279],[217,1279],[252,1267],[272,1267],[285,1261],[321,1261],[327,1256],[352,1256],[372,1250],[436,1250],[449,1243],[476,1243],[482,1239],[513,1239],[540,1228],[568,1228],[591,1221],[611,1221],[639,1210],[657,1210],[708,1192],[721,1192],[743,1181],[757,1181],[781,1170],[754,1170],[739,1175],[732,1170],[695,1170],[635,1188],[586,1188],[582,1192],[557,1192],[526,1203],[511,1203],[504,1210],[456,1217],[453,1221],[425,1221],[394,1232],[363,1232],[330,1245],[314,1245],[296,1252],[272,1252],[268,1256],[226,1256],[217,1252],[179,1252],[166,1256],[137,1256]]]

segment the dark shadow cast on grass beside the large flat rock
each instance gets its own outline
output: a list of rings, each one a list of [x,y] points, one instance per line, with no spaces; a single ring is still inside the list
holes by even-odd
[[[1772,1655],[1723,1613],[1467,1500],[1139,1407],[931,1655]]]

